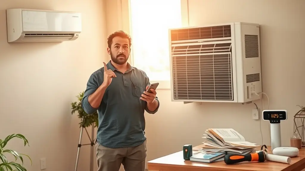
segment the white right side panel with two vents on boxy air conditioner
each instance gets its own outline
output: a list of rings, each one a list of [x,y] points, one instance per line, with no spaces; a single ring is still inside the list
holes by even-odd
[[[249,102],[260,98],[253,91],[262,92],[259,25],[242,24],[242,44],[243,89]]]

